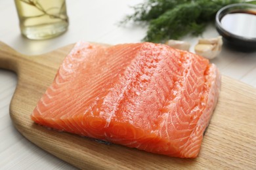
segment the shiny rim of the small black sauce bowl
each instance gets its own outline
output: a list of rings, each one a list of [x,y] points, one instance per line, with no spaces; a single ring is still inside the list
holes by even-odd
[[[225,7],[221,8],[215,16],[215,23],[216,23],[217,28],[220,29],[225,35],[229,35],[230,37],[240,39],[242,41],[247,41],[247,42],[256,42],[256,37],[255,38],[242,37],[240,35],[235,35],[234,33],[230,33],[229,31],[227,31],[226,29],[223,28],[223,26],[221,24],[221,18],[223,18],[223,16],[225,14],[228,14],[228,12],[225,12],[225,10],[228,10],[232,7],[251,7],[251,9],[255,9],[255,11],[256,11],[256,5],[253,5],[253,4],[235,3],[235,4],[231,4],[231,5],[226,5]],[[242,8],[241,8],[241,10],[242,10]]]

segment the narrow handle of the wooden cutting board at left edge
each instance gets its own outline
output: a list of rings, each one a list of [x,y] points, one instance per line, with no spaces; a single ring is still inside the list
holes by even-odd
[[[8,69],[17,73],[22,56],[22,54],[0,41],[0,69]]]

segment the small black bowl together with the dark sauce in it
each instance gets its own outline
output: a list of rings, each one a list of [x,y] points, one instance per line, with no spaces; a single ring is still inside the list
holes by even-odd
[[[227,46],[244,52],[256,51],[256,5],[227,5],[217,12],[215,25]]]

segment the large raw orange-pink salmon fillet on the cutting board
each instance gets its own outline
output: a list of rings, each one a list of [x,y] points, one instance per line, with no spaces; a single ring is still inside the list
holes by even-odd
[[[77,42],[32,120],[147,152],[195,158],[220,86],[214,64],[165,44]]]

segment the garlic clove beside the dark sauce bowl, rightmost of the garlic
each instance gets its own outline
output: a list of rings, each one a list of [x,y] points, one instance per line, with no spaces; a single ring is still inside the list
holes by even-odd
[[[204,58],[213,59],[221,53],[222,45],[223,40],[221,36],[213,39],[200,39],[194,50],[196,54]]]

